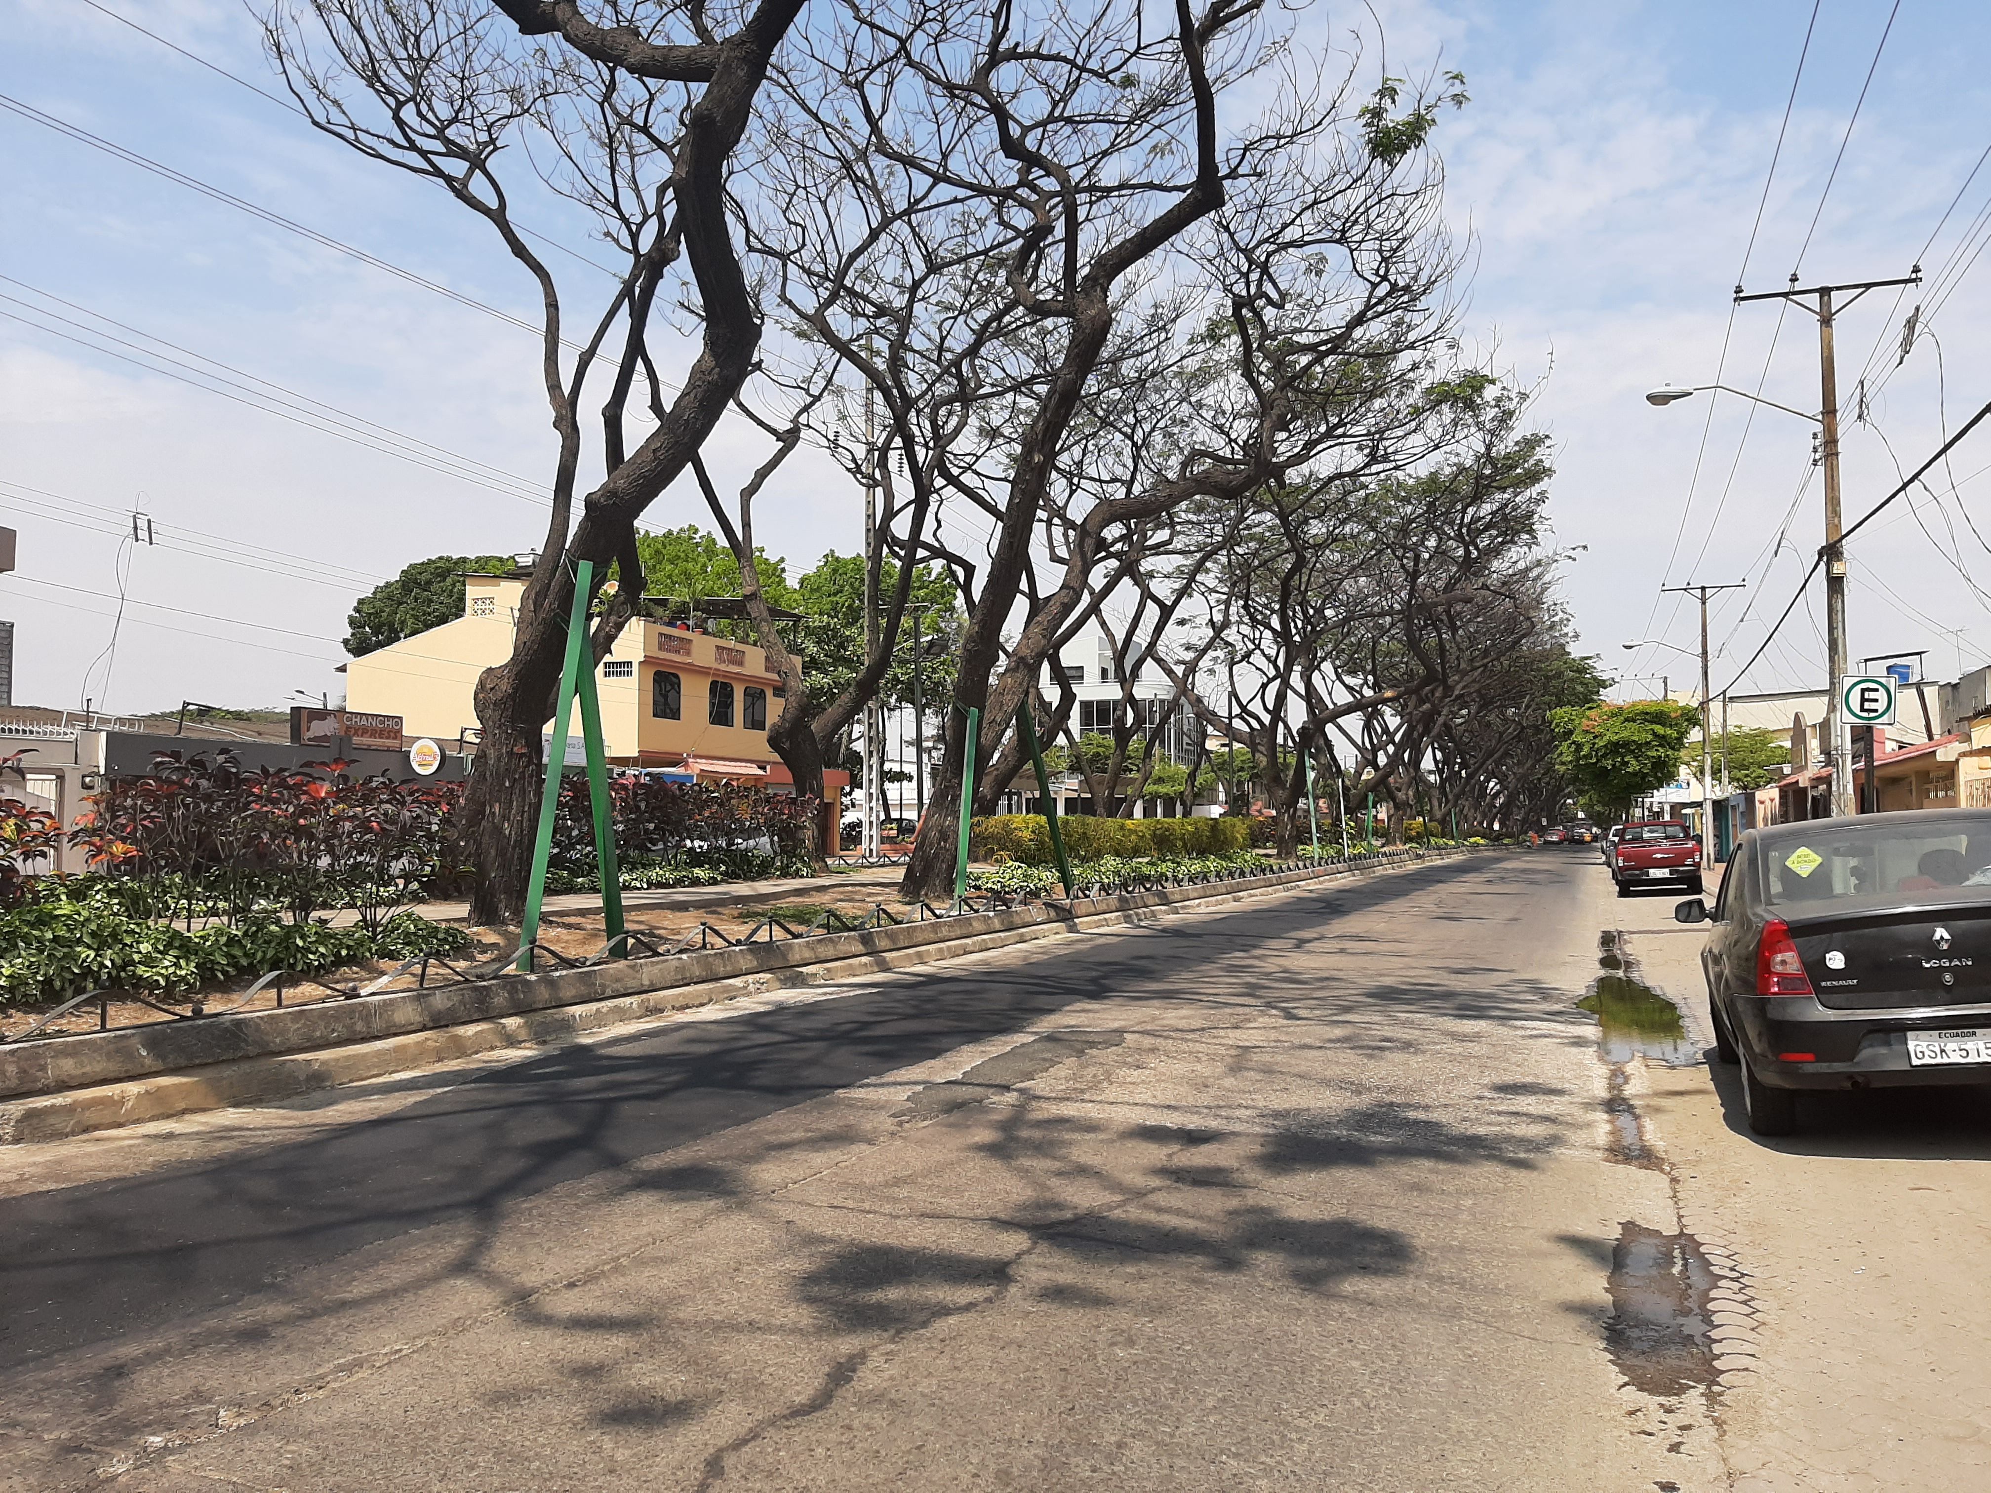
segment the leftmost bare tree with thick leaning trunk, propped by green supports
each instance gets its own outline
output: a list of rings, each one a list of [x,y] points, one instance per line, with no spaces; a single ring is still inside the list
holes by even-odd
[[[482,746],[464,804],[476,862],[472,918],[524,908],[540,733],[552,715],[573,565],[621,585],[593,633],[607,651],[641,597],[635,522],[691,464],[755,366],[761,317],[733,245],[727,181],[774,48],[802,0],[759,0],[719,34],[701,0],[589,20],[573,0],[295,0],[265,18],[271,58],[313,121],[384,165],[434,181],[484,219],[534,281],[540,364],[557,438],[542,563],[526,585],[512,659],[478,681]],[[540,42],[536,38],[550,38]],[[506,155],[506,151],[512,151]],[[595,211],[617,255],[591,319],[569,330],[561,291],[516,221],[504,161]],[[653,332],[673,273],[699,322],[683,386],[657,374]],[[573,498],[593,374],[605,478]],[[655,426],[631,440],[631,396]],[[647,408],[645,408],[647,406]]]

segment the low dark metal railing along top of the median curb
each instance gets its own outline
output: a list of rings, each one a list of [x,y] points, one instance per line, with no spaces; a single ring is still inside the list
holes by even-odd
[[[402,960],[392,969],[382,975],[372,977],[364,985],[338,985],[329,979],[319,979],[317,975],[303,975],[291,969],[269,969],[255,979],[243,991],[229,993],[201,993],[189,997],[185,1007],[165,1005],[151,995],[129,991],[129,989],[92,989],[82,995],[72,995],[70,999],[56,1005],[52,1011],[44,1013],[34,1025],[24,1031],[16,1031],[10,1037],[0,1037],[0,1047],[26,1043],[26,1041],[60,1041],[64,1037],[90,1037],[104,1031],[129,1031],[137,1027],[157,1027],[171,1025],[177,1021],[205,1021],[219,1015],[231,1015],[235,1011],[247,1009],[263,991],[273,991],[275,1007],[265,1009],[295,1009],[301,1005],[323,1005],[329,1001],[354,1001],[366,999],[370,995],[392,995],[398,989],[392,985],[400,979],[414,979],[414,989],[428,989],[432,975],[440,969],[446,975],[448,985],[476,985],[476,983],[496,983],[500,979],[518,977],[516,963],[528,950],[534,956],[548,956],[559,969],[589,969],[603,965],[609,960],[669,960],[683,954],[705,954],[715,948],[747,948],[753,944],[778,944],[778,942],[800,942],[810,938],[826,938],[832,934],[860,934],[878,928],[900,928],[906,924],[936,922],[946,918],[966,918],[982,912],[1007,912],[1011,908],[1027,906],[1031,902],[1043,904],[1065,904],[1071,906],[1081,898],[1101,898],[1101,896],[1125,896],[1131,892],[1161,892],[1173,888],[1189,886],[1218,886],[1228,882],[1252,882],[1266,876],[1276,876],[1294,870],[1332,870],[1336,866],[1376,866],[1376,864],[1396,864],[1408,860],[1420,860],[1424,852],[1404,848],[1404,850],[1378,850],[1370,854],[1348,856],[1322,856],[1320,860],[1302,858],[1286,862],[1266,862],[1264,866],[1236,866],[1220,872],[1197,872],[1189,876],[1123,876],[1117,880],[1093,880],[1083,882],[1073,888],[1071,898],[1061,892],[1055,896],[1033,896],[1027,892],[980,892],[962,898],[956,904],[936,908],[930,902],[916,902],[910,908],[894,912],[882,902],[872,904],[872,908],[862,916],[850,916],[836,912],[834,908],[824,908],[806,924],[798,920],[780,918],[769,914],[747,928],[745,934],[733,936],[725,928],[709,922],[699,922],[697,928],[683,934],[677,940],[653,940],[647,934],[629,930],[617,934],[599,950],[585,958],[573,958],[563,954],[542,940],[532,940],[528,944],[516,946],[506,954],[490,956],[486,960],[470,961],[450,961],[438,954],[418,954],[410,960]],[[311,993],[299,999],[299,991],[315,989],[321,993]],[[408,989],[402,985],[400,989]],[[94,1027],[70,1027],[56,1031],[52,1029],[56,1021],[76,1011],[98,1007],[98,1021]],[[147,1011],[157,1011],[155,1019],[133,1019],[111,1023],[111,1005],[139,1005]]]

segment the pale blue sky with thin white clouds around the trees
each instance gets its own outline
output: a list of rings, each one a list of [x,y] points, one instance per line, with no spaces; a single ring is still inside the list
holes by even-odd
[[[532,287],[434,187],[108,10],[281,94],[235,0],[8,6],[0,524],[20,557],[0,575],[0,617],[16,623],[14,699],[127,713],[336,701],[356,593],[426,555],[540,543],[553,440],[534,336],[42,119],[498,313],[532,320]],[[1467,249],[1463,328],[1537,390],[1579,649],[1623,677],[1619,697],[1653,695],[1662,675],[1680,689],[1698,671],[1696,609],[1660,587],[1748,581],[1710,609],[1714,689],[1822,687],[1816,581],[1762,647],[1822,539],[1810,422],[1728,394],[1641,396],[1722,382],[1812,412],[1816,320],[1778,301],[1734,307],[1738,279],[1889,279],[1919,259],[1919,289],[1876,291],[1838,324],[1848,522],[1991,398],[1991,265],[1973,257],[1991,161],[1971,179],[1991,147],[1991,84],[1971,62],[1991,50],[1991,8],[1818,0],[1816,24],[1812,0],[1292,14],[1314,48],[1360,38],[1372,74],[1465,74],[1471,104],[1436,133]],[[532,227],[585,253],[571,213],[528,207]],[[593,275],[553,259],[579,285]],[[1917,305],[1923,334],[1895,368]],[[149,368],[113,356],[141,348]],[[205,386],[169,376],[195,368]],[[761,450],[723,430],[721,484]],[[1933,494],[1852,541],[1852,655],[1925,649],[1927,675],[1953,679],[1991,657],[1991,422],[1929,480]],[[151,543],[129,539],[133,512]],[[703,518],[687,484],[649,522]],[[802,454],[761,524],[806,569],[856,547],[862,496]],[[1670,647],[1621,647],[1643,639]]]

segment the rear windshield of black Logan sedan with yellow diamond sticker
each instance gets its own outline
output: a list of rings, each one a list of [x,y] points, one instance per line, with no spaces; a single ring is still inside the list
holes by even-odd
[[[1953,810],[1941,824],[1889,824],[1885,814],[1818,820],[1816,832],[1766,840],[1762,856],[1778,906],[1991,898],[1991,814]]]

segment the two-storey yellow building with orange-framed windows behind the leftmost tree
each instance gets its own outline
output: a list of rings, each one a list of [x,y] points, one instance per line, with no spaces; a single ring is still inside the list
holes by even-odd
[[[346,709],[398,715],[410,737],[474,743],[478,675],[512,657],[526,579],[466,575],[462,617],[346,665]],[[609,760],[677,768],[699,780],[792,786],[767,745],[782,689],[759,647],[637,617],[597,665],[595,685]],[[577,741],[577,719],[571,731]],[[850,774],[824,778],[824,796],[836,802]]]

